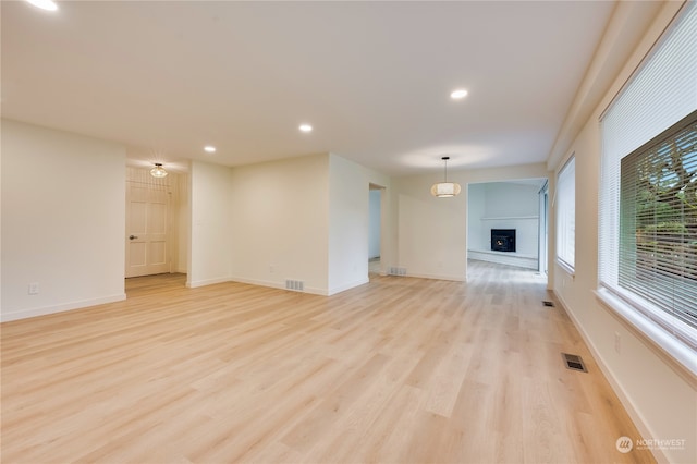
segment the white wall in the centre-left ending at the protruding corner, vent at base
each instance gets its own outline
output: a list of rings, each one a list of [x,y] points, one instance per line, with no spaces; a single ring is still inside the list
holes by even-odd
[[[234,168],[231,182],[232,279],[327,294],[328,155]]]

